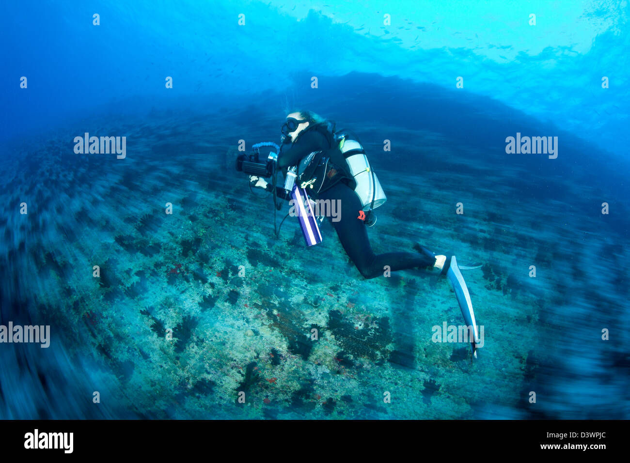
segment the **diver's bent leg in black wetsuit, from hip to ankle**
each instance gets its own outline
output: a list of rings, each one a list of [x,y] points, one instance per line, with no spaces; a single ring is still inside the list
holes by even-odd
[[[427,254],[374,254],[367,236],[367,227],[363,220],[358,219],[359,211],[362,210],[361,202],[357,194],[347,185],[338,183],[321,193],[319,199],[339,200],[340,220],[336,222],[331,220],[331,223],[339,236],[341,246],[363,277],[374,278],[383,275],[386,265],[389,266],[389,270],[396,271],[406,268],[432,267],[435,264],[435,257]]]

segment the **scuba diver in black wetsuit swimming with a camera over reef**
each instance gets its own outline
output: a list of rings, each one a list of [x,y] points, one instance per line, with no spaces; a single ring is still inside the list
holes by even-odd
[[[291,198],[290,190],[293,185],[289,188],[275,185],[275,169],[278,169],[282,171],[285,179],[294,178],[296,187],[301,186],[303,191],[316,196],[319,202],[329,200],[330,203],[336,202],[340,205],[339,220],[331,220],[331,224],[335,228],[341,246],[364,278],[384,275],[387,266],[392,271],[419,268],[428,273],[446,275],[455,290],[455,296],[467,326],[472,327],[469,328],[471,349],[474,357],[477,357],[476,343],[479,343],[479,338],[473,304],[466,282],[459,270],[460,268],[462,270],[479,268],[480,265],[458,266],[455,256],[433,254],[418,243],[414,245],[417,253],[375,254],[367,236],[367,227],[374,225],[374,209],[382,205],[386,197],[374,174],[374,169],[367,162],[367,156],[358,137],[348,130],[336,131],[335,129],[334,122],[325,120],[312,111],[295,111],[287,115],[281,127],[282,144],[277,154],[277,161],[273,159],[272,163],[273,185],[263,178],[266,175],[271,176],[270,169],[267,169],[267,174],[250,175],[250,186],[272,192],[274,202],[276,197]],[[270,159],[272,159],[271,156]],[[238,161],[237,169],[242,169]],[[246,173],[252,172],[251,169],[243,170]],[[295,190],[299,188],[294,188]],[[307,198],[306,194],[303,196]],[[276,207],[279,209],[277,205]],[[304,222],[302,222],[302,232],[304,232]],[[319,229],[317,232],[319,233]],[[307,238],[306,233],[305,238]],[[321,241],[321,236],[319,241]],[[307,239],[307,244],[310,246],[319,241],[309,243]]]

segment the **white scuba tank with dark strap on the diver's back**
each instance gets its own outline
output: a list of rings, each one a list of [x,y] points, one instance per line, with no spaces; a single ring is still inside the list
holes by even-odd
[[[370,162],[367,160],[361,144],[353,139],[352,135],[343,132],[335,134],[335,140],[338,141],[341,154],[345,157],[348,169],[357,183],[355,193],[361,200],[361,205],[365,211],[383,205],[387,201],[387,197],[381,182],[370,167]]]

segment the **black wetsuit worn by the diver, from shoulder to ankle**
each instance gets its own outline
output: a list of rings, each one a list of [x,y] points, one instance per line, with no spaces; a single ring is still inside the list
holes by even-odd
[[[370,240],[367,237],[367,226],[359,219],[359,212],[363,209],[360,198],[355,193],[355,181],[348,171],[347,163],[343,159],[340,149],[332,141],[323,125],[307,127],[292,144],[283,144],[278,154],[278,168],[286,173],[287,168],[295,166],[313,151],[326,150],[329,166],[319,193],[312,191],[319,200],[339,200],[341,205],[340,220],[335,222],[329,217],[335,227],[341,246],[352,259],[358,271],[365,278],[384,275],[385,266],[389,270],[404,270],[406,268],[430,267],[435,264],[435,258],[418,253],[384,253],[374,254]],[[272,188],[270,188],[272,189]],[[278,194],[284,197],[285,190],[277,187]],[[307,190],[309,191],[309,190]],[[311,195],[311,191],[309,191]]]

